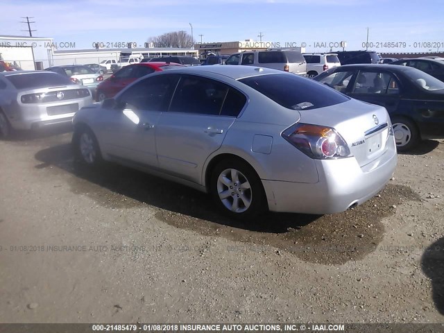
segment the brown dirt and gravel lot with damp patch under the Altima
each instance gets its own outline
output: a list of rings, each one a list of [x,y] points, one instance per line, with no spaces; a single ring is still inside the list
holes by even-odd
[[[0,323],[443,323],[444,141],[343,214],[240,224],[70,128],[0,142]]]

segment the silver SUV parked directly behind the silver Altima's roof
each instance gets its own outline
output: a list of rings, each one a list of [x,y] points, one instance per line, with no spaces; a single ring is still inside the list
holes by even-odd
[[[288,71],[305,76],[307,62],[302,53],[294,50],[244,51],[234,53],[225,65],[248,65]]]

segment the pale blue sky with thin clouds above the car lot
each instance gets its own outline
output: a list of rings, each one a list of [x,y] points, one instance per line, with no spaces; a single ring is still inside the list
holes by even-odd
[[[196,42],[254,40],[307,52],[444,51],[443,0],[1,0],[0,35],[52,37],[58,49],[92,49],[186,31]],[[7,13],[7,15],[4,15]],[[202,36],[200,36],[202,35]],[[303,44],[302,44],[303,45]]]

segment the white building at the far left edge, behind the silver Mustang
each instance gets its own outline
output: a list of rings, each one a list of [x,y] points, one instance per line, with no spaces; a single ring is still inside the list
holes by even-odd
[[[26,70],[45,69],[52,62],[53,38],[0,35],[0,58]]]

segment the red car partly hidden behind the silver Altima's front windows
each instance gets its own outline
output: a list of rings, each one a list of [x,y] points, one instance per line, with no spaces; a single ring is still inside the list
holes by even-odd
[[[155,71],[164,71],[165,69],[176,67],[183,66],[174,62],[141,62],[139,64],[125,66],[97,86],[96,101],[100,102],[104,99],[114,97],[121,89],[133,83],[138,78],[142,78],[142,76],[154,73]]]

